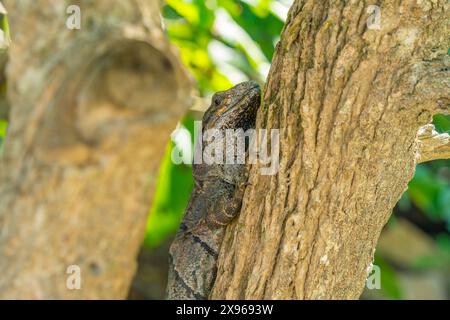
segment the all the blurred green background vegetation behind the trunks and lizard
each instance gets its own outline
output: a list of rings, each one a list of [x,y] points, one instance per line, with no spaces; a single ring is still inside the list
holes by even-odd
[[[201,97],[253,79],[264,82],[290,0],[167,0],[167,33],[194,75]],[[178,228],[192,189],[190,164],[171,161],[173,147],[186,154],[193,147],[193,121],[172,136],[161,163],[149,215],[145,248],[157,248]],[[438,131],[450,131],[450,117],[436,116]],[[7,123],[0,120],[0,153]],[[180,133],[181,132],[181,133]],[[364,298],[449,297],[450,161],[419,165],[408,191],[386,226],[375,264],[381,289]]]

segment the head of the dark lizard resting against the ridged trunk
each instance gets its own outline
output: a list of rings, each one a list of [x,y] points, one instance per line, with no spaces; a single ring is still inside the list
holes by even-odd
[[[242,82],[217,92],[203,116],[203,130],[254,128],[261,104],[261,88],[255,81]]]

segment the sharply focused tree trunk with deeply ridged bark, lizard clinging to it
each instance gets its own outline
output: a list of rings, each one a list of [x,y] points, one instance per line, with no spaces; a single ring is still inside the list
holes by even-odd
[[[381,7],[380,30],[366,26],[370,4]],[[257,122],[281,129],[280,170],[252,167],[212,298],[360,296],[416,163],[449,156],[433,151],[448,135],[436,143],[428,128],[417,141],[433,114],[449,113],[449,6],[295,1]]]

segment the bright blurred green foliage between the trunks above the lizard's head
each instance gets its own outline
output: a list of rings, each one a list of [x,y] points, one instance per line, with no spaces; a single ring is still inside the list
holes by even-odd
[[[284,24],[280,6],[267,0],[167,1],[167,33],[203,95],[247,79],[264,81]]]

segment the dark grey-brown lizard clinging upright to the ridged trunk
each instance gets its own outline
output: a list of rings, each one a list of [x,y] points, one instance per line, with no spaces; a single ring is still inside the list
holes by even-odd
[[[196,152],[207,146],[209,141],[202,141],[207,130],[225,132],[254,128],[260,102],[261,90],[254,81],[216,93],[203,116]],[[228,142],[219,143],[224,146],[223,154],[230,151],[230,147],[234,148]],[[246,143],[247,153],[248,148]],[[247,172],[245,163],[226,163],[225,160],[223,163],[194,163],[195,186],[169,250],[168,299],[208,299],[217,274],[216,262],[225,227],[240,211]]]

